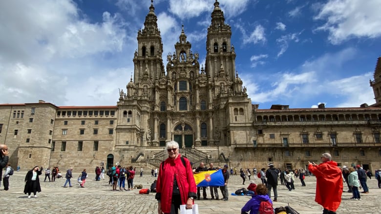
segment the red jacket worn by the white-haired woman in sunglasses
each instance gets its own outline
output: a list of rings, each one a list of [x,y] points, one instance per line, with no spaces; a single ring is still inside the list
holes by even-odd
[[[161,211],[163,213],[170,213],[170,206],[172,201],[173,180],[176,177],[177,185],[180,190],[181,204],[186,204],[190,196],[196,197],[196,182],[194,181],[191,164],[188,158],[184,158],[185,165],[181,161],[180,154],[176,159],[167,158],[160,164],[159,176],[157,177],[156,184],[156,199],[161,201]]]

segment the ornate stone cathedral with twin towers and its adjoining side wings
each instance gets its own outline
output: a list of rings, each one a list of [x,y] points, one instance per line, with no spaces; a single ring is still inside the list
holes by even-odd
[[[184,26],[163,60],[151,4],[137,32],[133,78],[115,106],[0,104],[0,142],[8,145],[13,166],[155,168],[168,157],[166,142],[174,140],[196,166],[203,161],[262,168],[271,162],[305,169],[329,152],[341,166],[381,168],[381,58],[370,80],[373,105],[260,109],[235,70],[232,29],[217,0],[213,6],[205,67]]]

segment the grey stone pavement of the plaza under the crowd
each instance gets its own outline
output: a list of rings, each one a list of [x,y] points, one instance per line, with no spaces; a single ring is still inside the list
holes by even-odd
[[[77,177],[80,173],[73,173]],[[42,192],[38,198],[27,198],[23,194],[24,176],[26,171],[16,172],[10,177],[10,188],[3,190],[0,187],[1,213],[57,213],[57,214],[157,214],[157,202],[154,194],[138,195],[139,190],[128,192],[115,192],[108,186],[108,176],[105,180],[95,181],[94,174],[89,173],[85,188],[80,188],[76,179],[72,179],[72,188],[63,188],[64,178],[56,179],[55,182],[43,182],[44,175],[40,176]],[[253,177],[252,177],[253,178]],[[149,188],[155,178],[149,174],[143,177],[135,175],[134,185],[142,184],[143,188]],[[259,183],[260,179],[256,180]],[[300,214],[321,214],[322,207],[315,202],[316,178],[306,177],[306,187],[300,186],[296,180],[295,191],[288,191],[283,185],[278,185],[278,202],[274,207],[290,204]],[[350,200],[351,193],[344,192],[338,214],[380,214],[381,213],[381,189],[377,188],[377,180],[372,177],[367,181],[369,194],[361,194],[361,201]],[[242,185],[242,178],[238,175],[231,176],[229,180],[229,193],[245,187],[249,181]],[[126,184],[127,185],[127,184]],[[344,191],[347,191],[344,184]],[[361,191],[360,191],[361,192]],[[202,194],[202,193],[201,193]],[[221,192],[218,191],[221,195]],[[33,194],[32,194],[33,195]],[[209,189],[207,189],[210,198]],[[272,197],[274,198],[274,196]],[[195,200],[199,206],[200,214],[240,214],[241,208],[250,199],[249,196],[229,195],[229,201],[222,200]]]

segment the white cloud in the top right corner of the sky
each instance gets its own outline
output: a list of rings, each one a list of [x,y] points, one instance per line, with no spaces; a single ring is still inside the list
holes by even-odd
[[[314,19],[326,22],[316,30],[328,31],[332,44],[352,38],[381,36],[380,0],[329,0]]]

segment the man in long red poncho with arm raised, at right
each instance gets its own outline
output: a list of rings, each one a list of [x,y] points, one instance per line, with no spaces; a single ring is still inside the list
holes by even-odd
[[[322,163],[308,162],[308,170],[316,176],[315,201],[323,206],[323,214],[336,214],[341,203],[342,175],[338,163],[332,161],[331,154],[320,157]]]

